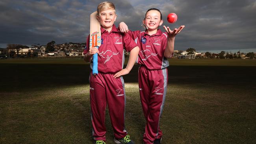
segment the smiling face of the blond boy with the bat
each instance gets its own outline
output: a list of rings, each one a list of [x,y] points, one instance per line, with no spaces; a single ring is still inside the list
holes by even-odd
[[[113,24],[117,18],[114,9],[108,9],[104,11],[100,11],[100,16],[97,16],[100,22],[100,25],[103,29],[108,32],[112,30]]]

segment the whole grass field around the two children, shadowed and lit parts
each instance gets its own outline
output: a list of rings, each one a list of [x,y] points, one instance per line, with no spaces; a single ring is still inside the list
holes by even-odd
[[[126,130],[142,144],[138,65],[124,76]],[[0,60],[0,144],[93,144],[89,64]],[[171,59],[163,144],[255,144],[256,60]],[[117,104],[118,107],[118,104]],[[107,144],[114,144],[106,111]]]

